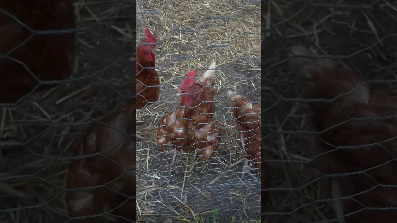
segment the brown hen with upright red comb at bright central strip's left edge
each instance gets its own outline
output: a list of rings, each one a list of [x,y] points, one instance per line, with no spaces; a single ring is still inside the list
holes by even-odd
[[[136,81],[135,93],[137,94],[137,109],[143,108],[149,102],[156,102],[160,96],[160,79],[154,68],[156,61],[156,38],[150,33],[150,30],[145,29],[146,38],[144,38],[137,47],[136,54]],[[154,44],[150,44],[154,43]],[[157,86],[157,87],[150,87]]]

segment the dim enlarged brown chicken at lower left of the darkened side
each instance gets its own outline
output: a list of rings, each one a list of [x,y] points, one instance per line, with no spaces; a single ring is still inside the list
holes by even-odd
[[[135,134],[135,100],[87,130],[75,156],[88,157],[71,162],[66,187],[105,187],[68,191],[65,198],[71,217],[95,215],[104,205],[110,204],[117,222],[133,222],[135,137],[132,134]],[[91,223],[96,220],[85,218],[73,222]]]

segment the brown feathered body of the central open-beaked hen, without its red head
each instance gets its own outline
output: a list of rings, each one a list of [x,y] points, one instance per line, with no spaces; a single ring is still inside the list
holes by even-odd
[[[200,150],[201,159],[208,160],[219,147],[220,128],[213,123],[215,111],[214,76],[206,78],[203,75],[199,82],[202,86],[202,94],[192,108],[176,108],[168,115],[164,115],[157,129],[157,144],[161,151],[171,141],[173,148],[190,152]],[[183,106],[181,104],[181,106]],[[184,139],[178,139],[184,138]]]

